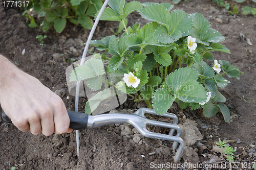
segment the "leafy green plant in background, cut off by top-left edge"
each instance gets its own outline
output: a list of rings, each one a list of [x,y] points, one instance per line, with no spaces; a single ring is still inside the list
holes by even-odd
[[[25,11],[23,15],[30,19],[29,27],[38,27],[46,32],[53,26],[60,33],[65,29],[67,20],[84,29],[92,29],[91,17],[102,7],[102,0],[35,0],[29,3],[27,9],[31,7],[38,18],[43,19],[38,25],[29,12]]]

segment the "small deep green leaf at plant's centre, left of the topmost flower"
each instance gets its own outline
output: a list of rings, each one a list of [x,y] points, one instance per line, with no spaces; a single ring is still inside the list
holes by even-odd
[[[175,48],[175,44],[172,46],[150,46],[153,54],[155,55],[155,60],[164,66],[172,64],[172,57],[168,52]]]

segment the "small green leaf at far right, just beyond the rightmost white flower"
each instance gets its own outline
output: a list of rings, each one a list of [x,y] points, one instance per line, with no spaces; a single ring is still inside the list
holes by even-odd
[[[219,60],[222,70],[227,74],[228,77],[236,77],[240,79],[240,74],[244,75],[244,72],[240,71],[236,66],[230,65],[228,61]]]

